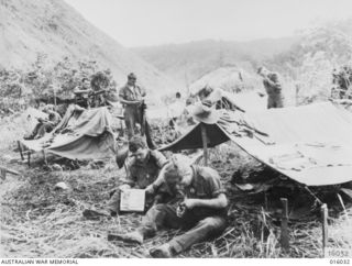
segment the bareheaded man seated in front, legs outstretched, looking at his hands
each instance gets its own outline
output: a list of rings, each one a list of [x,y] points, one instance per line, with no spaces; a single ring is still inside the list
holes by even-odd
[[[109,241],[142,244],[162,228],[188,230],[150,251],[153,257],[173,257],[193,244],[223,232],[227,228],[228,199],[215,169],[189,165],[189,162],[179,160],[175,156],[165,166],[163,178],[168,186],[176,187],[184,195],[183,200],[152,207],[136,231],[110,234]]]

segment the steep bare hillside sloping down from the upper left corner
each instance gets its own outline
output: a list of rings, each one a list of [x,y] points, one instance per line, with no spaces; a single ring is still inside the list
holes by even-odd
[[[63,0],[0,1],[0,67],[29,68],[37,53],[55,62],[68,56],[97,60],[119,85],[134,71],[155,93],[175,82],[85,20]]]

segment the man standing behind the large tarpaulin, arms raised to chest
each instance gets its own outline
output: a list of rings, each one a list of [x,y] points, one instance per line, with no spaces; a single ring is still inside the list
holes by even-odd
[[[284,97],[282,93],[282,82],[278,80],[278,74],[270,71],[265,67],[260,67],[257,74],[263,77],[263,85],[267,93],[267,109],[283,108]],[[262,96],[262,95],[261,95]]]

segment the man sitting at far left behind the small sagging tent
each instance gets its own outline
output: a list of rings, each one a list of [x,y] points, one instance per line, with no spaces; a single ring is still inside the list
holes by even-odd
[[[54,106],[47,104],[43,112],[48,114],[48,119],[37,119],[38,123],[35,125],[32,134],[24,137],[24,140],[37,140],[45,135],[45,133],[52,132],[55,126],[62,121],[62,117],[54,111]]]

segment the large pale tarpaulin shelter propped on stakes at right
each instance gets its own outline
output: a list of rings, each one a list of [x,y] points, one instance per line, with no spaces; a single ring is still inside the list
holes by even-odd
[[[352,180],[352,113],[330,102],[237,112],[232,121],[198,123],[161,149],[202,147],[200,126],[207,129],[209,147],[233,141],[253,157],[300,184],[326,186]]]

